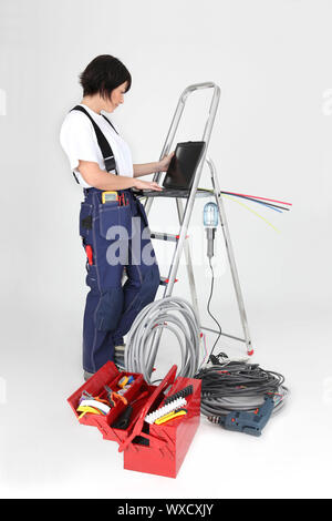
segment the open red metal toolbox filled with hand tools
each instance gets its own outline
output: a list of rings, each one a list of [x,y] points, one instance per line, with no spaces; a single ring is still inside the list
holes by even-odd
[[[124,452],[125,469],[176,478],[199,425],[201,384],[200,380],[193,378],[176,378],[176,370],[177,367],[173,366],[164,380],[158,386],[153,386],[147,385],[142,375],[120,372],[112,361],[107,361],[68,401],[81,423],[96,427],[106,440],[117,441],[118,451]],[[104,386],[117,391],[118,382],[124,376],[134,378],[123,395],[128,406],[133,403],[133,412],[126,429],[112,427],[127,407],[120,400],[105,416],[85,413],[80,418],[76,409],[83,391],[101,399],[106,398]],[[167,397],[189,385],[193,386],[193,394],[186,396],[185,416],[163,425],[145,421],[149,412],[163,407]]]

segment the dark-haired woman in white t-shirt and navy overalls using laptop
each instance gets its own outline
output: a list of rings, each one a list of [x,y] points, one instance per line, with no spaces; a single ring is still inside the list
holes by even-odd
[[[95,58],[80,82],[83,100],[66,115],[60,141],[85,196],[80,235],[90,286],[83,324],[87,379],[107,360],[121,359],[124,335],[155,298],[159,270],[145,211],[131,188],[160,191],[157,183],[138,177],[166,171],[173,154],[133,165],[127,143],[101,114],[122,104],[131,88],[131,74],[120,60],[108,54]],[[122,285],[124,272],[127,279]]]

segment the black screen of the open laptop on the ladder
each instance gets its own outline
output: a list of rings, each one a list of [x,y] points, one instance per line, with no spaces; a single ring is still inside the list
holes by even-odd
[[[204,141],[187,141],[176,145],[164,178],[165,188],[189,190],[191,187],[204,146]]]

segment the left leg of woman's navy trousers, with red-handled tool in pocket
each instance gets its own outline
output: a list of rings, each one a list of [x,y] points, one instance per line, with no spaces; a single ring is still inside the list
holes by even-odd
[[[81,223],[92,216],[91,228],[81,229],[81,235],[84,247],[91,246],[93,253],[92,264],[86,265],[90,292],[83,320],[83,368],[95,372],[114,359],[113,333],[123,313],[122,276],[128,262],[131,208],[117,203],[103,205],[98,193],[89,201],[92,204],[83,203],[81,210]]]

